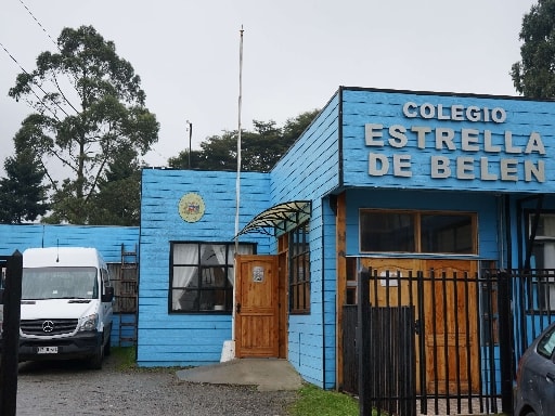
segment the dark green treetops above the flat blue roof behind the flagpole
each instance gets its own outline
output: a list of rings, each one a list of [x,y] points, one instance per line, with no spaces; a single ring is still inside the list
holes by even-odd
[[[295,143],[305,129],[312,122],[318,110],[306,112],[287,119],[283,128],[275,121],[253,120],[255,131],[242,131],[241,160],[243,171],[268,172]],[[201,143],[199,152],[191,153],[192,167],[203,170],[237,169],[237,131],[224,131]],[[168,160],[172,168],[186,169],[189,153],[181,152]]]

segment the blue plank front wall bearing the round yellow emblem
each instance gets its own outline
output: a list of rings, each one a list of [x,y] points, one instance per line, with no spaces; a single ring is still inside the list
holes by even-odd
[[[139,286],[140,366],[188,366],[220,361],[223,342],[231,339],[232,317],[221,314],[168,313],[169,249],[171,240],[231,243],[235,223],[234,172],[145,169],[142,172]],[[242,173],[240,230],[270,207],[268,173]],[[185,222],[178,212],[180,198],[197,193],[205,213]],[[269,237],[241,236],[269,253]]]

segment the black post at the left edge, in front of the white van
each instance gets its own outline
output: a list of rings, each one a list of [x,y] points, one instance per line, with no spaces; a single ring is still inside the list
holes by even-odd
[[[23,255],[15,250],[8,259],[3,292],[2,355],[0,367],[0,415],[15,416]]]

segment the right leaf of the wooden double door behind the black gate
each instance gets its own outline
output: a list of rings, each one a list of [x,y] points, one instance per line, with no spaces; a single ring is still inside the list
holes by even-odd
[[[424,303],[427,390],[476,393],[479,391],[477,263],[426,260],[425,276],[430,276],[431,270],[434,280],[424,283],[424,299],[428,299]]]

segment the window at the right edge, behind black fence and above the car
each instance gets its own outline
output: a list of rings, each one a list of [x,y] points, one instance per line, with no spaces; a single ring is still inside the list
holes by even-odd
[[[532,232],[532,213],[529,214],[529,231]],[[555,311],[555,214],[541,213],[538,221],[538,230],[532,247],[535,260],[534,269],[537,276],[533,278],[535,285],[537,301],[532,309],[539,311]],[[533,302],[533,299],[530,299]]]

